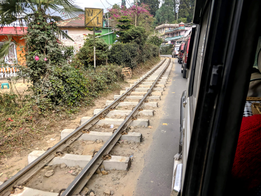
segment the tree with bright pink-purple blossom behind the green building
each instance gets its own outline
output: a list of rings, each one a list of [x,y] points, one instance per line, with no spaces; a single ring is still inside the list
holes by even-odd
[[[137,26],[144,27],[147,31],[152,30],[152,23],[153,23],[153,16],[150,14],[150,8],[148,5],[142,3],[140,5],[133,5],[132,7],[125,8],[121,7],[118,8],[111,8],[108,9],[109,13],[111,14],[111,19],[114,20],[115,24],[118,24],[118,19],[121,19],[122,16],[126,16],[126,19],[130,21],[131,25],[135,25],[135,15],[136,16],[136,24]]]

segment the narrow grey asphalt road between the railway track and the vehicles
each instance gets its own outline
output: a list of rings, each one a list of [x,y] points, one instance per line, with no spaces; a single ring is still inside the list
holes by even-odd
[[[171,55],[164,55],[171,57]],[[179,145],[180,131],[180,98],[186,89],[186,78],[182,78],[180,72],[181,64],[177,58],[173,58],[175,80],[169,87],[169,94],[166,96],[163,111],[165,116],[153,135],[153,142],[144,155],[145,165],[139,176],[139,182],[134,191],[134,196],[169,196],[171,192],[174,155]],[[175,92],[175,93],[171,93]],[[167,125],[162,125],[167,123]]]

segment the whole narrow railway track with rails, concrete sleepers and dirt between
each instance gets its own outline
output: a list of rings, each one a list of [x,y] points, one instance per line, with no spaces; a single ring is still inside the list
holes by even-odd
[[[151,100],[160,100],[171,61],[164,58],[120,95],[115,95],[115,100],[107,101],[104,109],[94,110],[93,117],[83,117],[75,130],[64,129],[61,141],[47,151],[30,153],[29,164],[0,186],[0,195],[94,195],[87,188],[94,173],[102,176],[108,174],[108,170],[128,170],[132,156],[112,155],[111,150],[119,142],[130,144],[143,140],[141,133],[134,132],[135,127],[149,126],[146,116],[153,116],[152,109],[157,107],[157,102]],[[86,150],[87,144],[93,145],[93,149]],[[49,180],[54,170],[56,182]],[[43,188],[43,180],[49,181],[50,191]],[[67,187],[61,187],[64,184],[59,180],[67,181]]]

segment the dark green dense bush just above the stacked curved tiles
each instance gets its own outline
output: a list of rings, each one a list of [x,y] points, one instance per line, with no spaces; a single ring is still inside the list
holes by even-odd
[[[139,46],[134,42],[113,44],[109,51],[109,60],[123,67],[136,67]]]

